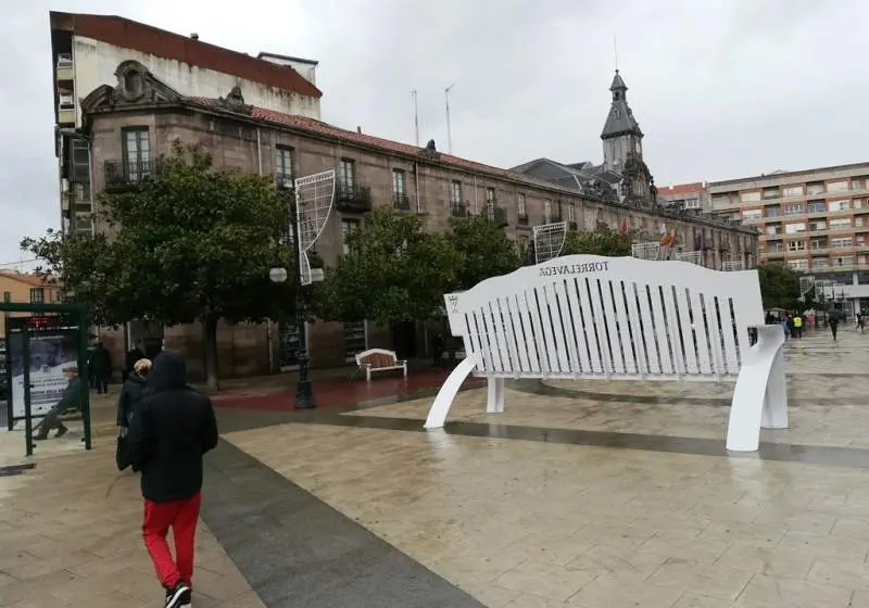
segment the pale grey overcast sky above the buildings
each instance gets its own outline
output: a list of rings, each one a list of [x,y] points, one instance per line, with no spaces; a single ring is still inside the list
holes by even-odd
[[[15,0],[0,20],[0,263],[60,223],[49,10],[319,60],[323,119],[496,166],[600,161],[615,64],[659,186],[869,161],[869,1]],[[14,8],[13,8],[14,7]],[[159,75],[158,75],[159,76]],[[86,92],[81,93],[83,96]]]

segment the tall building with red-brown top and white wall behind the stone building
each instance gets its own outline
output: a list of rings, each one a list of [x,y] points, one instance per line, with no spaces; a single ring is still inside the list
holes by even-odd
[[[55,154],[59,159],[61,225],[91,232],[93,189],[90,144],[81,137],[81,100],[98,87],[119,86],[141,99],[146,90],[124,71],[134,61],[159,73],[185,96],[216,98],[234,86],[251,103],[275,112],[319,118],[323,96],[316,86],[317,62],[261,52],[256,58],[114,15],[52,11],[51,56],[54,86]],[[147,142],[124,142],[131,157],[148,159]]]

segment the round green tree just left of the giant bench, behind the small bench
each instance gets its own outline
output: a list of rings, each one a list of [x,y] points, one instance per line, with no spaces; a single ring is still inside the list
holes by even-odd
[[[430,317],[457,282],[462,255],[425,217],[390,208],[369,213],[348,237],[348,254],[326,269],[312,309],[325,320],[382,325]]]

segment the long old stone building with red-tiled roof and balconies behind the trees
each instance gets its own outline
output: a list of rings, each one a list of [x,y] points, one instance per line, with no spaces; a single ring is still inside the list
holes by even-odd
[[[434,142],[420,149],[361,129],[340,129],[262,109],[249,104],[240,87],[219,98],[188,97],[137,62],[125,62],[116,72],[128,75],[130,71],[137,72],[137,77],[118,77],[115,86],[98,87],[81,101],[83,135],[92,149],[95,190],[135,183],[159,170],[154,160],[168,153],[176,139],[202,145],[218,167],[277,179],[337,169],[333,213],[316,245],[327,265],[338,261],[345,236],[358,229],[366,212],[383,205],[423,214],[433,231],[449,229],[452,217],[483,215],[504,226],[512,238],[526,242],[533,226],[557,220],[567,221],[575,230],[605,224],[655,239],[666,226],[681,246],[705,243],[711,266],[720,267],[726,259],[754,263],[756,231],[729,221],[594,198],[521,173],[443,154]],[[128,83],[141,88],[131,94],[125,89]],[[147,142],[149,159],[129,156],[126,142],[131,138]],[[222,328],[222,375],[267,372],[288,363],[281,357],[282,334],[281,328],[273,325]],[[167,345],[187,351],[194,370],[202,358],[200,335],[199,328],[166,330]],[[308,327],[308,338],[313,364],[320,367],[340,365],[366,346],[392,346],[390,331],[374,324],[345,328],[317,322]],[[113,340],[123,342],[118,335]],[[420,333],[413,347],[405,345],[413,350],[406,354],[424,356],[426,345],[426,335]]]

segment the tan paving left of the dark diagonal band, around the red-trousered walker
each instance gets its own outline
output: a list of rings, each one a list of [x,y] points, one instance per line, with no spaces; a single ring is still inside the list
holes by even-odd
[[[113,442],[0,478],[0,607],[163,606],[141,512],[138,476],[118,477]],[[197,550],[197,608],[263,608],[203,524]]]

